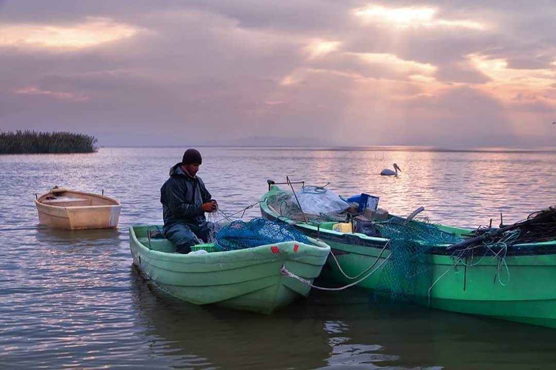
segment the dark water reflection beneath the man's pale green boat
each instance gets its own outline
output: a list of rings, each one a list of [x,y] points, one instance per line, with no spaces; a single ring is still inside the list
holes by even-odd
[[[158,290],[134,266],[130,275],[153,355],[172,356],[180,366],[251,369],[316,368],[329,357],[322,320],[306,320],[302,307],[286,316],[200,307]]]

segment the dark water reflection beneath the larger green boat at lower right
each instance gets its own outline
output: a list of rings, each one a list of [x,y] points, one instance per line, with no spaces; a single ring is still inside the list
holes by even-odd
[[[326,320],[330,334],[327,369],[551,369],[556,362],[556,332],[549,328],[426,307],[377,306],[359,289],[315,292],[310,302],[312,315]]]

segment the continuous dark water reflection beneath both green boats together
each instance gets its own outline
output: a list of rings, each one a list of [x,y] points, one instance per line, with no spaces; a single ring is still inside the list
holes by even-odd
[[[173,366],[517,370],[551,368],[555,359],[553,330],[423,307],[378,307],[364,290],[317,291],[261,316],[190,305],[158,290],[135,267],[130,275],[141,334],[151,355]]]

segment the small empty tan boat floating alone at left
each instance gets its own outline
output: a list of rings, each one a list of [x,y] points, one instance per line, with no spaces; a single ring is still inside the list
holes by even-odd
[[[41,195],[35,205],[39,224],[64,230],[116,229],[121,210],[110,197],[65,189]]]

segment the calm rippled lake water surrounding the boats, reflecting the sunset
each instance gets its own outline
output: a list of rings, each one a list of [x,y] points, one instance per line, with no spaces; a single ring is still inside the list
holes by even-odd
[[[199,175],[229,214],[286,175],[369,192],[394,214],[423,205],[431,221],[457,226],[497,225],[500,212],[509,223],[556,204],[552,152],[201,149]],[[358,289],[312,292],[273,316],[160,292],[132,266],[127,227],[161,222],[160,186],[182,151],[0,156],[1,368],[556,368],[556,330],[375,307]],[[398,178],[378,175],[394,162]],[[116,197],[118,230],[39,227],[34,193],[54,185]]]

